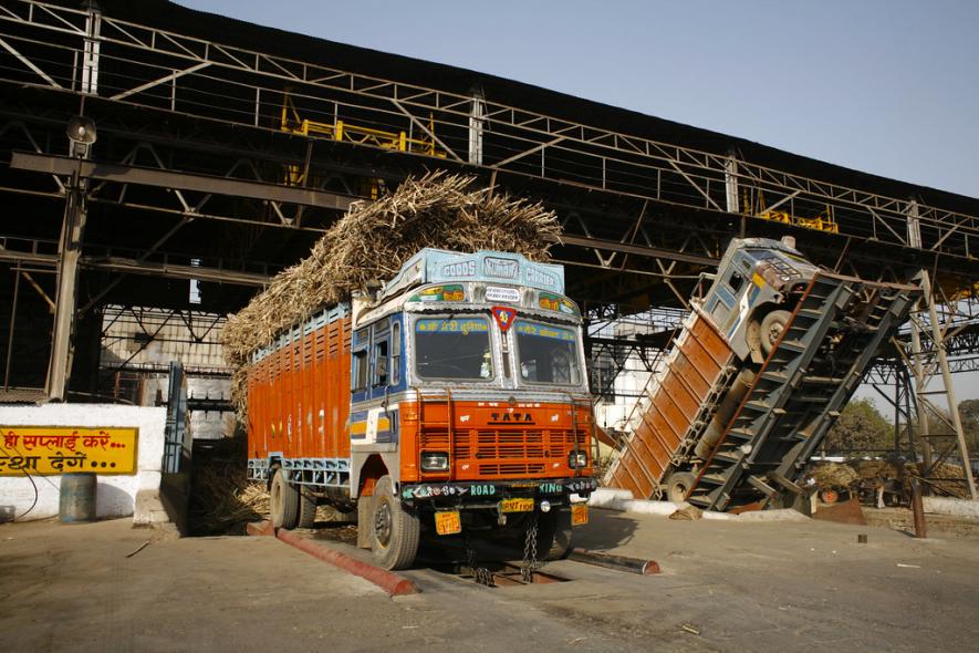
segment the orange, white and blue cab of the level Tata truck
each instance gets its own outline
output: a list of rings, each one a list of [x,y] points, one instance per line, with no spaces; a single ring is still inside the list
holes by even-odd
[[[376,504],[371,474],[383,468],[423,532],[506,529],[534,514],[550,525],[544,548],[566,552],[572,512],[595,484],[581,313],[562,292],[559,266],[429,249],[369,308],[355,305],[360,509]]]

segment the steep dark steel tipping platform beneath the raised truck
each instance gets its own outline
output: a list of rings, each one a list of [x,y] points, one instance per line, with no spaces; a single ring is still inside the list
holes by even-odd
[[[817,273],[687,500],[711,510],[791,505],[802,494],[799,471],[918,294],[909,286]]]

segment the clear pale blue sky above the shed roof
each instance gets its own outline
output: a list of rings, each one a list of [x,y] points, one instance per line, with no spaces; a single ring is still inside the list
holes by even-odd
[[[179,0],[979,197],[972,0]]]

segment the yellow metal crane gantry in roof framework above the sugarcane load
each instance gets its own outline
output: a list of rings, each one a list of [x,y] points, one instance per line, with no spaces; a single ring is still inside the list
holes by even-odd
[[[384,149],[394,149],[396,152],[409,152],[412,154],[424,154],[445,158],[446,153],[436,147],[435,138],[409,138],[406,132],[385,132],[372,127],[361,127],[352,125],[343,121],[333,123],[321,123],[303,118],[299,115],[292,97],[287,91],[282,99],[282,118],[280,128],[283,132],[300,134],[302,136],[322,136],[332,141],[341,141],[344,143],[356,143],[360,145],[371,145],[374,147],[383,147]],[[429,115],[428,132],[435,134],[435,120]],[[299,165],[285,166],[287,183],[290,186],[301,186],[304,179],[303,168]],[[376,180],[372,180],[376,182]],[[376,199],[378,191],[377,184],[371,185],[369,193],[372,199]]]

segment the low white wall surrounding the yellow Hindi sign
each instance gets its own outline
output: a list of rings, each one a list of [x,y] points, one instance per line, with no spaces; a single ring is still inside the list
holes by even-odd
[[[139,429],[137,469],[129,476],[97,477],[97,517],[133,515],[136,493],[157,491],[163,469],[166,408],[103,404],[45,404],[43,406],[0,406],[0,425],[7,426],[135,426]],[[0,512],[4,519],[20,516],[34,502],[23,520],[58,515],[60,476],[0,476]],[[12,515],[11,515],[12,511]]]

